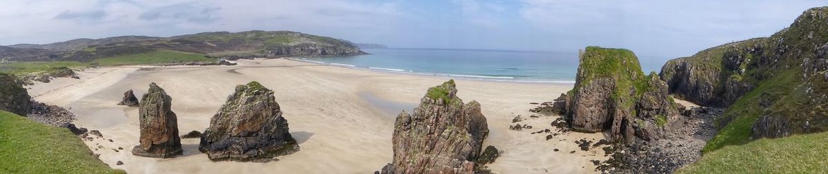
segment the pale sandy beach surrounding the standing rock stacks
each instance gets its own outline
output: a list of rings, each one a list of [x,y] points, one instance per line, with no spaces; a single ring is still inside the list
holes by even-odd
[[[287,59],[238,61],[238,66],[91,68],[80,80],[61,78],[31,86],[37,101],[70,107],[76,125],[99,129],[105,139],[87,141],[101,160],[129,173],[371,173],[391,162],[393,121],[411,111],[428,87],[448,78],[341,68]],[[157,159],[132,156],[138,143],[137,108],[115,105],[133,89],[140,98],[156,82],[172,97],[180,134],[203,131],[236,85],[261,82],[275,91],[301,150],[277,162],[211,162],[199,153],[198,139],[182,139],[184,155]],[[603,151],[581,151],[577,139],[603,139],[603,134],[569,133],[546,140],[532,131],[551,129],[557,116],[530,118],[529,102],[549,101],[571,84],[484,82],[455,79],[458,96],[482,105],[489,139],[503,151],[489,168],[498,173],[594,173],[591,159]],[[529,130],[509,130],[523,115]],[[113,142],[109,142],[112,139]],[[100,147],[100,148],[99,148]],[[113,149],[124,148],[115,152]],[[553,149],[560,149],[554,152]],[[570,153],[575,151],[575,153]],[[116,162],[125,164],[116,166]]]

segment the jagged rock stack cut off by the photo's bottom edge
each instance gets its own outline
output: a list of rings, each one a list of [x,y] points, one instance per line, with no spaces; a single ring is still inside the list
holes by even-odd
[[[477,101],[463,104],[450,80],[431,87],[420,106],[394,123],[393,161],[381,173],[474,173],[489,135]],[[485,160],[484,160],[485,161]]]

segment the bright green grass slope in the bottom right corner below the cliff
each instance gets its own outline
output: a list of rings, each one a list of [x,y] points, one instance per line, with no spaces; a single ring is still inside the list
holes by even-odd
[[[705,155],[676,173],[828,173],[828,133],[759,139]]]

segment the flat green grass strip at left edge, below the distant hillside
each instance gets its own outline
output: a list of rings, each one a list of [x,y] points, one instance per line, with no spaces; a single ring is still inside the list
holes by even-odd
[[[46,72],[54,68],[86,68],[89,63],[81,63],[75,61],[54,61],[54,62],[17,62],[0,64],[0,73],[37,73]]]

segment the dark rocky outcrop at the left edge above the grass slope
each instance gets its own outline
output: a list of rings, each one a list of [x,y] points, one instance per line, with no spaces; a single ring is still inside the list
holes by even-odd
[[[9,111],[17,115],[28,115],[31,105],[31,96],[18,83],[17,78],[6,73],[0,73],[0,110]]]

